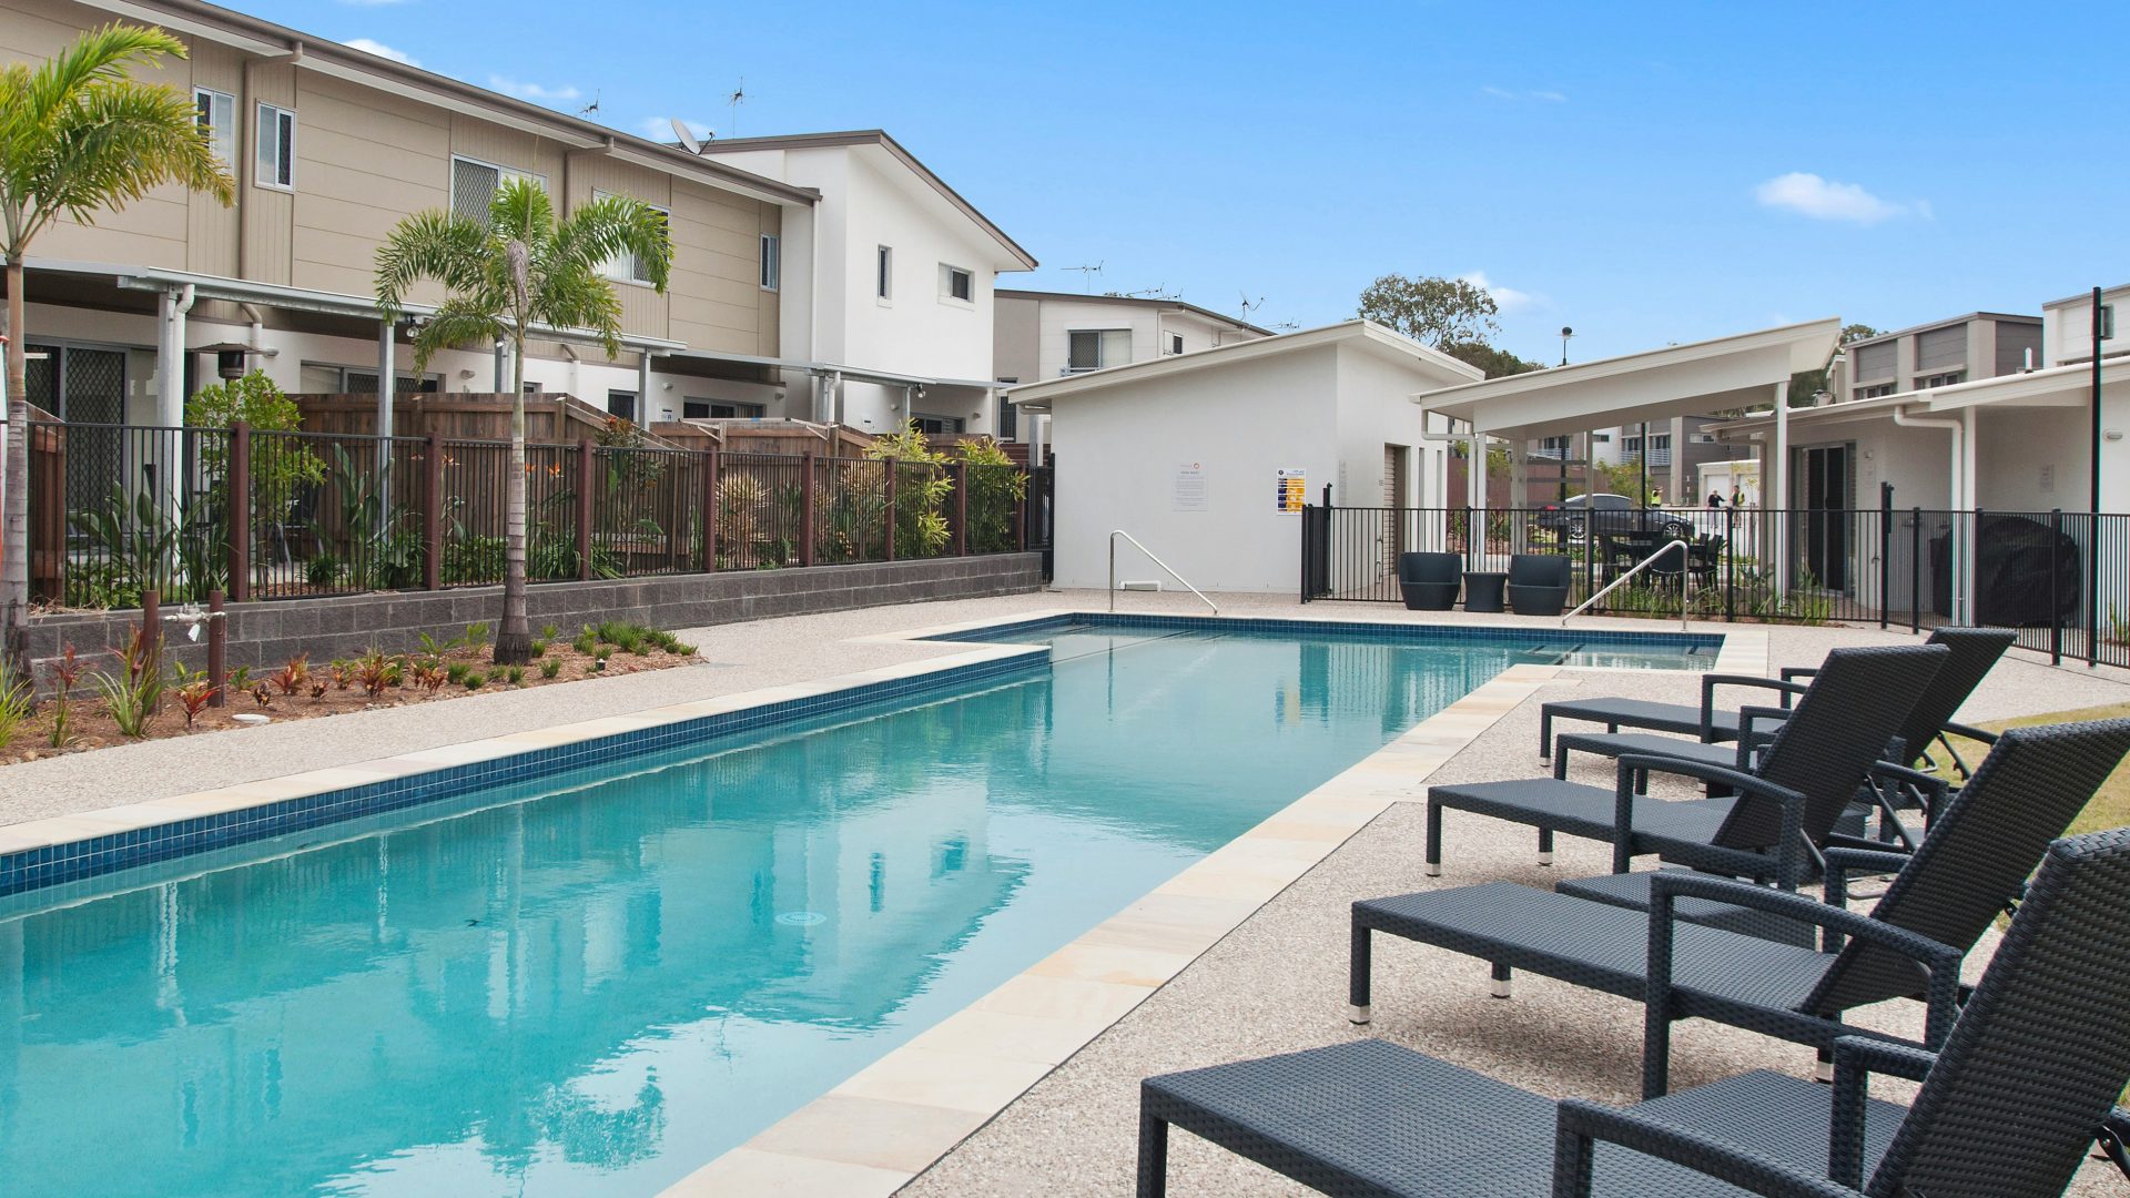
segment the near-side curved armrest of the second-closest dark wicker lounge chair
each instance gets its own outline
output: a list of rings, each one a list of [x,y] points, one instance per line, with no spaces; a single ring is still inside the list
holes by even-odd
[[[1664,870],[1649,880],[1649,998],[1651,1004],[1661,1004],[1670,1008],[1672,991],[1672,927],[1678,923],[1676,902],[1681,897],[1704,897],[1710,902],[1725,902],[1732,906],[1749,906],[1755,910],[1766,910],[1770,914],[1781,914],[1785,919],[1796,919],[1798,923],[1810,923],[1825,927],[1828,932],[1838,932],[1868,944],[1877,944],[1887,953],[1898,953],[1911,961],[1923,966],[1930,974],[1930,987],[1926,998],[1923,1015],[1923,1045],[1943,1045],[1945,1034],[1953,1027],[1953,1017],[1960,1015],[1960,959],[1966,955],[1951,944],[1938,944],[1936,940],[1908,932],[1906,927],[1894,927],[1881,919],[1868,914],[1857,914],[1845,906],[1834,906],[1819,900],[1808,900],[1789,891],[1772,891],[1768,887],[1755,887],[1751,883],[1736,883],[1730,878],[1713,878],[1706,874],[1687,874]]]

